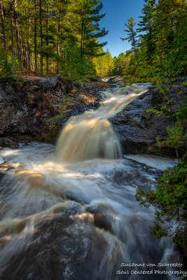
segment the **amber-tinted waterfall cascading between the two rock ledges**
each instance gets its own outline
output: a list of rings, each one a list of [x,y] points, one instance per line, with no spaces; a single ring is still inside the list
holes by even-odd
[[[57,160],[78,162],[93,158],[118,158],[121,154],[120,143],[108,119],[144,93],[148,85],[132,85],[115,92],[102,92],[106,100],[97,111],[90,110],[81,116],[71,117],[57,140]]]

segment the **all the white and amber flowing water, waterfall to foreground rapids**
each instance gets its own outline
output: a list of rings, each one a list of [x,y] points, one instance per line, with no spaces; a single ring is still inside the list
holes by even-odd
[[[154,209],[134,199],[160,171],[120,158],[108,120],[147,88],[102,92],[99,109],[70,118],[56,148],[0,152],[13,167],[0,186],[0,279],[180,279],[167,265],[181,261],[174,243],[151,235]]]

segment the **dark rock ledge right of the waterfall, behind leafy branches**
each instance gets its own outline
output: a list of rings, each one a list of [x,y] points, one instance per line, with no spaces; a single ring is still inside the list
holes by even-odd
[[[172,88],[172,108],[174,111],[183,102],[183,97],[186,96],[187,88],[181,85],[181,82],[185,80],[186,78],[176,80]],[[158,88],[152,87],[111,119],[113,128],[123,146],[123,153],[146,153],[176,158],[174,148],[167,146],[159,148],[155,140],[158,135],[162,140],[167,139],[167,127],[172,126],[171,121],[165,116],[165,113],[158,116],[146,111],[151,108],[160,110],[163,102],[163,94]],[[179,149],[179,153],[182,155],[185,150],[186,146],[183,146]]]

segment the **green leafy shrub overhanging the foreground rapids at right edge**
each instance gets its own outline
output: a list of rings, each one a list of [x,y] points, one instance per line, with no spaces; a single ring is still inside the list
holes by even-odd
[[[136,200],[141,206],[156,207],[153,235],[172,236],[184,246],[186,227],[186,156],[177,167],[167,169],[155,190],[137,189]]]

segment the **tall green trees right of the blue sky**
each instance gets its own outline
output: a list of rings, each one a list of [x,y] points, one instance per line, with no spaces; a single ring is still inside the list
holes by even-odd
[[[187,13],[186,1],[183,0],[145,0],[141,10],[142,15],[135,30],[134,21],[129,19],[129,35],[133,42],[132,57],[126,73],[135,77],[151,78],[153,70],[164,69],[170,64],[173,77],[186,73],[186,41],[187,41]],[[139,33],[139,40],[137,40]],[[152,69],[153,66],[153,69]],[[168,69],[168,67],[167,67]]]

